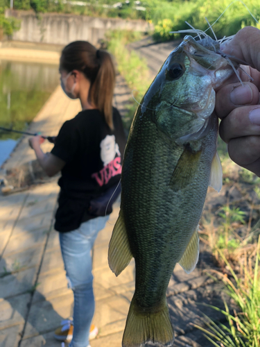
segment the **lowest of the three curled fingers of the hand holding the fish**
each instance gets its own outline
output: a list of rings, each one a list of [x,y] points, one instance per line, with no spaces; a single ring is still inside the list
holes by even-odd
[[[260,175],[260,136],[246,136],[232,139],[228,146],[230,158],[257,176]]]

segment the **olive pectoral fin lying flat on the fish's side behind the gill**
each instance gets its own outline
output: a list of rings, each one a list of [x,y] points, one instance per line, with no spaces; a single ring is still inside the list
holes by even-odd
[[[173,192],[184,189],[193,182],[194,177],[198,174],[198,164],[201,150],[193,152],[185,148],[177,162],[170,180],[170,188]]]

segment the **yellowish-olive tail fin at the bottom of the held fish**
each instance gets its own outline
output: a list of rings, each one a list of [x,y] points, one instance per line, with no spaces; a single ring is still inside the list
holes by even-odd
[[[137,305],[134,296],[125,324],[122,346],[140,347],[148,341],[162,346],[173,346],[174,330],[171,325],[166,298],[156,309],[145,312]]]

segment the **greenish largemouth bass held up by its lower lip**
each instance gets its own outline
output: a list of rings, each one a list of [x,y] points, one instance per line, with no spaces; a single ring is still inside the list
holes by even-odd
[[[123,347],[147,341],[172,346],[166,289],[176,263],[198,262],[198,222],[208,185],[218,191],[215,89],[233,74],[218,42],[184,40],[168,56],[144,95],[128,137],[121,210],[108,260],[116,276],[135,257],[135,294]]]

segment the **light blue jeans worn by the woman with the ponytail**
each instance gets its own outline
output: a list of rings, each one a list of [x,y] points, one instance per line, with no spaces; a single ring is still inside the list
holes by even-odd
[[[62,258],[74,294],[74,328],[69,347],[89,345],[89,329],[95,310],[91,250],[107,219],[109,216],[97,217],[82,223],[76,230],[60,232]]]

